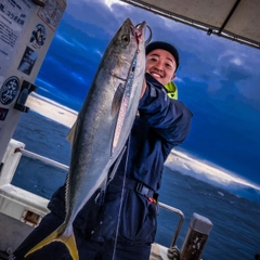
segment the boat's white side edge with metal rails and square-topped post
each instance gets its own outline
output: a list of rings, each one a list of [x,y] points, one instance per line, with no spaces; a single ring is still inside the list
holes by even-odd
[[[4,240],[4,245],[8,245],[2,246],[0,243],[0,251],[12,251],[16,248],[24,237],[29,234],[31,229],[37,226],[41,219],[49,212],[47,207],[49,199],[12,184],[13,176],[15,174],[22,155],[66,171],[69,169],[66,165],[25,150],[25,144],[20,141],[13,139],[10,141],[0,166],[0,230],[5,230],[5,232],[0,233],[0,242]],[[184,214],[180,209],[167,204],[158,203],[158,205],[160,208],[178,214],[180,219],[170,247],[168,248],[159,244],[153,244],[154,249],[152,247],[152,252],[157,252],[159,248],[159,255],[156,255],[157,257],[155,258],[152,256],[151,259],[193,259],[188,257],[188,253],[192,253],[190,252],[191,245],[199,243],[199,246],[198,244],[193,245],[193,248],[197,248],[197,258],[193,260],[198,260],[212,223],[208,219],[194,213],[180,251],[176,244],[182,229]],[[22,226],[18,224],[21,222],[26,224]],[[197,238],[191,240],[195,236]]]

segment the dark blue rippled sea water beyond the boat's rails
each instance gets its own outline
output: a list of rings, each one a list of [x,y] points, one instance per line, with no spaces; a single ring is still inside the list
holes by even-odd
[[[26,150],[68,165],[68,128],[36,113],[22,115],[13,135]],[[66,171],[23,156],[12,183],[50,198],[64,183]],[[159,200],[180,209],[183,222],[177,246],[181,248],[194,212],[208,218],[213,226],[206,243],[204,260],[253,260],[260,252],[260,205],[165,167]],[[170,246],[179,216],[160,209],[156,242]]]

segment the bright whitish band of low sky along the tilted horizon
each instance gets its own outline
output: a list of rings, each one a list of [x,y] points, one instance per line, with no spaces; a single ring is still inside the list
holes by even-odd
[[[51,118],[60,123],[64,123],[67,127],[70,127],[72,121],[75,121],[77,112],[70,107],[43,95],[36,93],[31,93],[30,95],[42,102],[39,109],[42,109],[44,117]],[[48,108],[50,105],[51,108]],[[57,112],[54,114],[55,109]],[[36,112],[39,113],[39,110]],[[69,116],[72,117],[72,120],[68,120]],[[197,180],[222,187],[233,194],[236,194],[237,196],[246,197],[260,204],[260,186],[258,184],[252,183],[234,172],[223,169],[220,166],[213,165],[210,161],[196,158],[186,152],[172,150],[165,166],[171,170],[179,171],[182,174],[191,176]]]

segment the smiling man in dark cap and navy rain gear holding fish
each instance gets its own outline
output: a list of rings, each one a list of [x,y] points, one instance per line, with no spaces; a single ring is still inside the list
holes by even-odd
[[[146,47],[145,80],[127,151],[115,177],[93,194],[74,222],[81,260],[150,259],[164,162],[187,136],[192,118],[192,113],[170,99],[164,87],[176,77],[178,66],[179,53],[173,46],[156,41]],[[62,186],[49,204],[51,212],[16,249],[14,259],[24,259],[32,246],[63,222],[64,197]],[[52,243],[26,259],[70,257],[64,245]]]

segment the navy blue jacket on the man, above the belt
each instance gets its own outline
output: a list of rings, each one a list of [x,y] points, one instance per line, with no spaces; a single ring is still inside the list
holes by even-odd
[[[158,191],[164,162],[187,136],[192,113],[182,102],[170,99],[164,86],[150,74],[145,78],[147,88],[130,135],[127,176]],[[125,161],[126,156],[118,174],[123,173]]]

